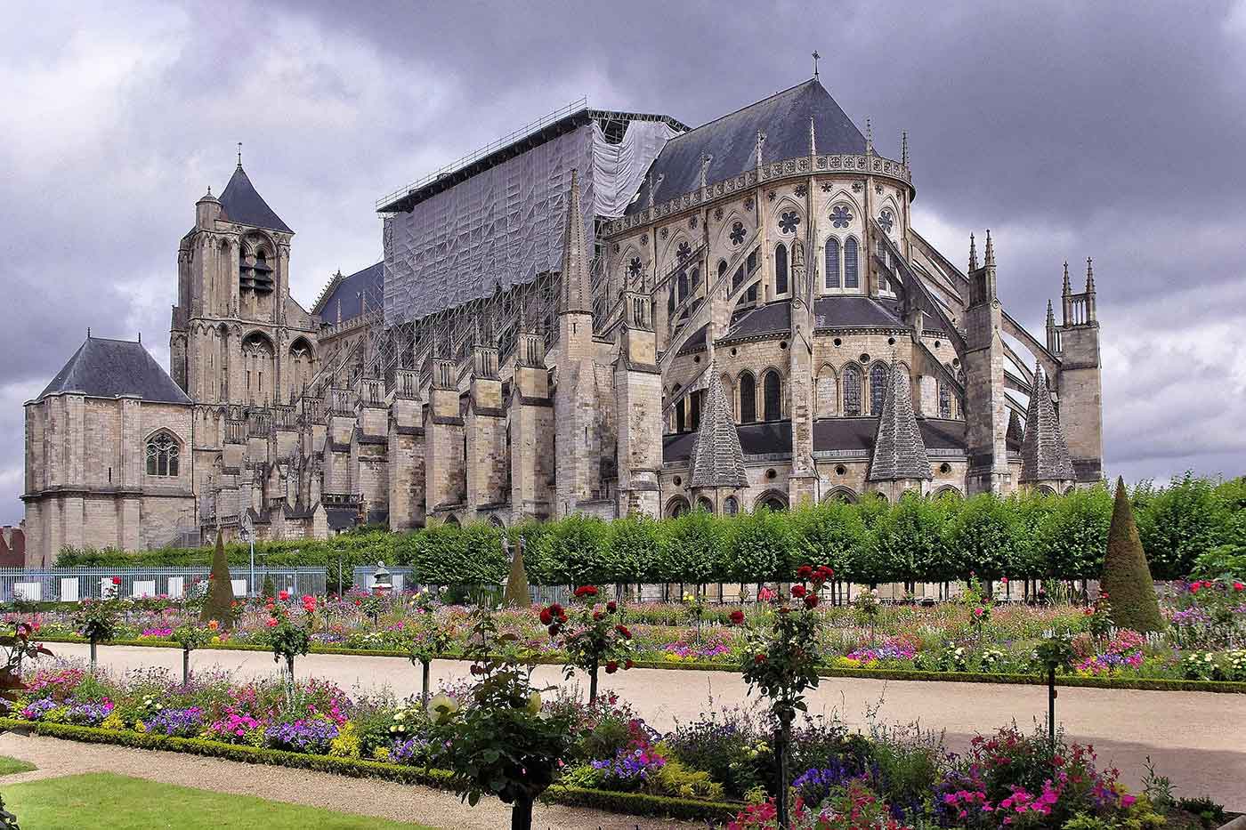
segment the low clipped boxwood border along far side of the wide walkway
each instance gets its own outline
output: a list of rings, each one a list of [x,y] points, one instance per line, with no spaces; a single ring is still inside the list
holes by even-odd
[[[85,646],[81,637],[55,634],[44,637],[44,643],[77,643]],[[181,647],[167,639],[116,639],[101,646],[135,646],[142,648],[176,648]],[[201,649],[209,651],[234,651],[234,652],[265,652],[267,646],[253,643],[214,643],[202,646]],[[199,649],[197,649],[199,651]],[[336,654],[341,657],[401,657],[406,658],[406,652],[394,649],[366,649],[366,648],[336,648],[331,646],[313,646],[313,654]],[[471,659],[461,654],[446,654],[439,657],[441,661],[466,661]],[[563,665],[564,661],[556,657],[537,657],[535,663],[542,665]],[[669,669],[689,672],[730,672],[739,673],[739,667],[730,663],[708,663],[703,661],[635,661],[635,668]],[[1047,685],[1047,679],[1039,674],[988,674],[986,672],[923,672],[918,669],[901,668],[845,668],[837,665],[824,665],[817,670],[821,677],[850,677],[873,680],[932,680],[936,683],[997,683],[1002,685]],[[1078,677],[1075,674],[1060,674],[1055,678],[1057,685],[1075,687],[1084,689],[1133,689],[1136,692],[1214,692],[1219,694],[1246,694],[1246,682],[1241,680],[1186,680],[1174,678],[1145,678],[1145,677]]]

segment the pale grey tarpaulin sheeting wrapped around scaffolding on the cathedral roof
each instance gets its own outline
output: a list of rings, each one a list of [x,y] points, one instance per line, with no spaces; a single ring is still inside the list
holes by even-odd
[[[557,270],[572,168],[581,173],[582,221],[593,244],[593,218],[623,216],[682,127],[659,116],[589,110],[554,126],[561,130],[525,136],[475,162],[480,172],[450,171],[380,208],[388,212],[386,327]]]

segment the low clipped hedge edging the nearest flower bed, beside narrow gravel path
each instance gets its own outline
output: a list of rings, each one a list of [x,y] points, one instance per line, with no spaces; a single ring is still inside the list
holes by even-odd
[[[450,773],[440,769],[424,769],[420,766],[405,766],[355,758],[309,755],[282,749],[227,744],[202,738],[173,738],[138,733],[131,729],[101,729],[98,727],[31,723],[12,718],[0,718],[0,730],[32,732],[49,738],[78,740],[90,744],[116,744],[136,749],[188,753],[192,755],[223,758],[244,764],[269,764],[273,766],[310,769],[318,773],[333,773],[353,778],[378,778],[399,784],[422,784],[440,789],[446,789],[450,784]],[[740,804],[697,801],[692,799],[645,795],[642,793],[612,793],[562,785],[551,786],[542,795],[541,800],[551,804],[625,813],[628,815],[663,816],[698,821],[723,821],[735,816],[743,806]]]

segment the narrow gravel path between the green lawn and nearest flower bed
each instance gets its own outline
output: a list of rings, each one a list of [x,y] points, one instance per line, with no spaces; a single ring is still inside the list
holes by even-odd
[[[482,799],[470,808],[442,790],[356,779],[329,773],[242,764],[182,753],[81,744],[42,735],[0,735],[0,754],[39,766],[0,778],[0,785],[59,778],[77,773],[116,773],[163,784],[181,784],[217,793],[255,795],[273,801],[305,804],[396,821],[419,821],[444,830],[497,830],[511,824],[510,808]],[[222,830],[228,824],[222,824]],[[654,819],[629,819],[597,810],[538,804],[532,826],[540,830],[657,830],[695,825]]]

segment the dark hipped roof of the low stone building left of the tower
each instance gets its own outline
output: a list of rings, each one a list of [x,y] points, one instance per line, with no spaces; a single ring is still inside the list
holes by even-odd
[[[88,336],[39,396],[67,391],[91,398],[138,395],[166,404],[191,403],[141,343],[107,338]]]

